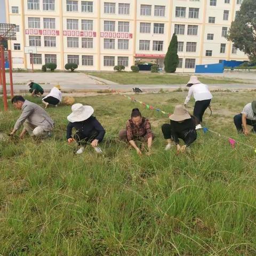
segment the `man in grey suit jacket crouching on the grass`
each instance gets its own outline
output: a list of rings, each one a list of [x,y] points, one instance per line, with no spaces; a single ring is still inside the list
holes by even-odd
[[[14,135],[22,124],[24,128],[20,133],[21,139],[27,132],[31,136],[38,137],[46,137],[51,134],[54,122],[43,108],[25,100],[22,96],[14,96],[12,98],[12,104],[15,108],[22,110],[22,113],[10,135]]]

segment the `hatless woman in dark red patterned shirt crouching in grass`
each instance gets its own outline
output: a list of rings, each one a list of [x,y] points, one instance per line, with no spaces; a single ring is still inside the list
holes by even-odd
[[[147,118],[142,117],[140,110],[134,108],[132,110],[131,119],[126,123],[126,130],[119,131],[119,139],[129,141],[132,147],[141,155],[141,149],[136,145],[134,140],[147,142],[148,143],[148,153],[150,154],[150,149],[152,141],[154,139],[154,134],[151,131],[151,125]]]

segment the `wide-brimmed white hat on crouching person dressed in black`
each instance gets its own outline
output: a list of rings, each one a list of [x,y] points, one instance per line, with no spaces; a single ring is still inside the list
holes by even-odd
[[[85,121],[94,113],[91,106],[83,106],[81,103],[72,105],[71,110],[72,113],[67,117],[71,123]]]

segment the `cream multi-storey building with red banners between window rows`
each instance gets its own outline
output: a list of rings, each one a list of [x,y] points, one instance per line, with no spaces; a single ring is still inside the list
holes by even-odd
[[[6,22],[17,25],[9,42],[13,68],[49,62],[57,69],[75,62],[79,70],[126,70],[135,59],[163,58],[178,36],[177,71],[220,60],[247,60],[225,38],[242,0],[5,0]]]

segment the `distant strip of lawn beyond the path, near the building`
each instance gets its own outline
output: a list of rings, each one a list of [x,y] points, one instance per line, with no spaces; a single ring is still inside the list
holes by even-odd
[[[186,84],[190,76],[167,75],[152,73],[132,73],[132,72],[86,72],[86,74],[107,79],[118,84]],[[244,83],[239,79],[229,78],[205,78],[200,77],[200,81],[206,84],[230,84]]]

